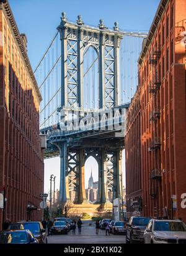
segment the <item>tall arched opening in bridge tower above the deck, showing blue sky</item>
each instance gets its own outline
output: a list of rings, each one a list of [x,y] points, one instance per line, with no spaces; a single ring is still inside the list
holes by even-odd
[[[85,109],[99,109],[99,55],[94,45],[84,49],[84,101]]]

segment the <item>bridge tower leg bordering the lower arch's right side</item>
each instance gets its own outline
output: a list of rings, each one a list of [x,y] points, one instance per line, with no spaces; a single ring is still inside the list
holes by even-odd
[[[107,202],[106,195],[106,181],[107,181],[107,154],[105,149],[100,151],[100,163],[99,163],[99,186],[97,192],[97,202],[99,204],[105,204]]]

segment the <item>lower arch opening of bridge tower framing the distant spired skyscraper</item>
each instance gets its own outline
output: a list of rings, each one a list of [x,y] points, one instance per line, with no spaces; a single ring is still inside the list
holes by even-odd
[[[84,179],[86,199],[90,202],[97,201],[99,164],[94,156],[89,156],[84,165]]]

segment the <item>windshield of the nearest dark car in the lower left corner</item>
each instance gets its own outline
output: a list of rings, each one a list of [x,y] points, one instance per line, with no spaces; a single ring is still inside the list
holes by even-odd
[[[28,237],[25,232],[0,233],[0,244],[27,244]]]

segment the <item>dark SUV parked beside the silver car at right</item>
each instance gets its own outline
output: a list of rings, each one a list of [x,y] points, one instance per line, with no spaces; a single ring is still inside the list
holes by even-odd
[[[144,243],[144,230],[151,218],[148,217],[131,217],[128,224],[126,224],[126,244],[133,244],[134,242]]]

